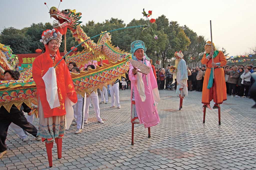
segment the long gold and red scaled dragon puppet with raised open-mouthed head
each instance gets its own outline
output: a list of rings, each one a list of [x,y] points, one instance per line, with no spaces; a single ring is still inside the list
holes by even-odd
[[[76,10],[59,11],[56,7],[51,7],[50,16],[59,20],[54,28],[70,29],[72,36],[82,43],[90,37],[80,27],[81,13]],[[78,94],[90,94],[98,88],[111,84],[116,79],[121,79],[129,70],[129,58],[131,54],[121,51],[119,48],[111,44],[111,35],[109,33],[102,34],[97,43],[89,40],[83,43],[85,48],[82,52],[78,52],[71,56],[67,56],[67,63],[73,61],[78,66],[87,63],[88,60],[96,59],[104,56],[110,61],[110,64],[103,63],[102,67],[95,70],[89,69],[88,72],[81,71],[80,74],[71,73],[75,89]],[[0,107],[4,106],[7,110],[12,104],[20,108],[22,102],[30,105],[31,102],[37,103],[36,84],[31,78],[32,67],[21,73],[20,80],[17,81],[0,81]]]

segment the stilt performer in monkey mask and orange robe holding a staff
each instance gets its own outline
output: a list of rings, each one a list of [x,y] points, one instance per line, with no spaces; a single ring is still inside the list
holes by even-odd
[[[201,63],[206,65],[203,90],[202,90],[202,103],[203,107],[210,107],[210,101],[213,99],[215,102],[214,109],[217,109],[223,101],[227,100],[227,90],[225,83],[225,72],[222,66],[227,64],[227,60],[222,51],[211,50],[211,42],[208,41],[205,45],[205,52]],[[212,56],[214,63],[212,63]],[[214,66],[214,79],[212,76],[212,67]]]

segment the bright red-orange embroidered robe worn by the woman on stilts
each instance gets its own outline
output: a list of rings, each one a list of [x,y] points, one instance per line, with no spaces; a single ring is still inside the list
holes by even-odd
[[[41,54],[33,62],[32,75],[37,86],[37,95],[40,96],[42,108],[44,111],[44,117],[51,116],[63,116],[66,115],[65,100],[68,97],[73,103],[77,102],[76,91],[74,90],[73,81],[68,69],[68,66],[64,60],[56,54],[55,61],[47,56]],[[60,107],[51,109],[46,99],[45,83],[42,77],[48,71],[50,67],[54,67],[58,61],[61,62],[55,68],[57,77],[58,97],[60,101]]]

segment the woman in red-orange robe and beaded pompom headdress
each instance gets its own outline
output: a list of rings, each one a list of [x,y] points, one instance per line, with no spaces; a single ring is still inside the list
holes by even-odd
[[[51,142],[54,140],[54,138],[63,137],[64,135],[66,98],[68,97],[73,103],[76,103],[77,95],[74,90],[73,81],[71,79],[67,64],[64,60],[62,60],[59,53],[59,46],[61,42],[61,34],[59,31],[57,29],[44,31],[42,34],[42,40],[40,40],[40,42],[44,43],[46,51],[45,53],[36,57],[33,62],[32,70],[33,78],[37,86],[38,107],[41,106],[38,109],[39,117],[41,119],[41,121],[39,121],[38,134],[40,134],[42,137],[42,141],[47,139],[47,142]],[[51,45],[52,43],[53,45]],[[55,68],[60,106],[51,109],[46,98],[45,83],[42,77],[50,67],[54,67],[60,60],[61,62]],[[52,124],[43,124],[45,123],[42,121],[43,119],[44,121],[49,120],[49,123],[52,122],[55,124],[55,127],[52,128]]]

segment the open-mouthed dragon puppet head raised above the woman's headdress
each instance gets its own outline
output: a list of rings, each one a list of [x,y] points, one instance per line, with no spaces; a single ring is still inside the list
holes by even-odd
[[[50,16],[55,18],[53,28],[57,28],[58,30],[69,28],[75,29],[77,25],[81,23],[80,18],[82,13],[76,12],[76,10],[65,9],[60,11],[56,7],[50,8]]]

